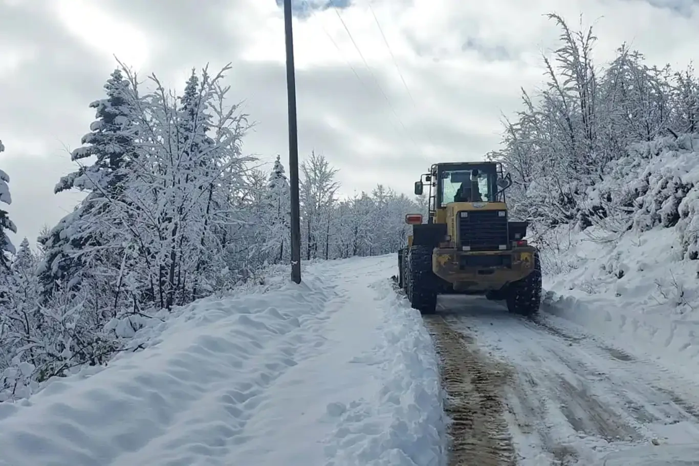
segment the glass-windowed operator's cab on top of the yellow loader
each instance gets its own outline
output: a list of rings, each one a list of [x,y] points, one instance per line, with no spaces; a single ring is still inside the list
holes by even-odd
[[[445,210],[454,202],[505,202],[505,190],[512,185],[503,176],[500,162],[449,162],[433,164],[429,173],[415,182],[415,195],[429,189],[428,223],[445,223]]]

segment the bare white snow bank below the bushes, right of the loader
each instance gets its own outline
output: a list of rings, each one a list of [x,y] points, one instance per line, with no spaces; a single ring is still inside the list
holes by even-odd
[[[545,253],[545,311],[679,372],[698,372],[698,264],[682,259],[675,229],[628,232],[608,242],[614,235],[596,227],[556,234],[571,246]]]

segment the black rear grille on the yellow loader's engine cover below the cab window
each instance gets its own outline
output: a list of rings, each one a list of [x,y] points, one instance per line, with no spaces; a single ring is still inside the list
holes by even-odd
[[[506,211],[459,212],[461,250],[510,249]]]

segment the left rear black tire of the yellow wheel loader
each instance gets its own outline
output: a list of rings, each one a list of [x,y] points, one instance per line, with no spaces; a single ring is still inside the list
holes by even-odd
[[[412,309],[432,314],[437,307],[435,274],[432,271],[432,248],[412,246],[405,257],[405,294]]]

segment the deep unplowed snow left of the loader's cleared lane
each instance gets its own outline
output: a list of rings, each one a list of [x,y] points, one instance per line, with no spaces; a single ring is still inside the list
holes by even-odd
[[[437,357],[394,262],[186,306],[145,350],[0,403],[0,464],[440,465]]]

